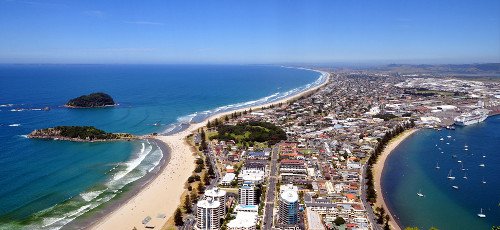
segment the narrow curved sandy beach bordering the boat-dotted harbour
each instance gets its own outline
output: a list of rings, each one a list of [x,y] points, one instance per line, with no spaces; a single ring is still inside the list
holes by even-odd
[[[392,153],[392,151],[407,137],[411,136],[413,133],[415,133],[418,129],[411,129],[411,130],[406,130],[402,134],[398,135],[397,137],[393,138],[389,144],[385,147],[384,151],[380,156],[378,157],[377,163],[373,166],[373,177],[374,177],[374,185],[375,185],[375,190],[377,192],[377,202],[375,203],[375,207],[383,207],[386,212],[389,213],[391,216],[391,220],[389,224],[391,225],[392,229],[396,230],[401,230],[401,227],[397,224],[397,222],[394,220],[394,215],[391,213],[391,210],[387,208],[387,205],[384,200],[383,191],[382,191],[382,186],[381,186],[381,179],[382,179],[382,171],[384,170],[385,166],[385,161],[387,160],[387,157]]]

